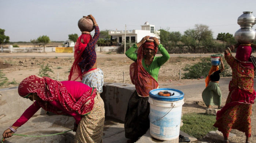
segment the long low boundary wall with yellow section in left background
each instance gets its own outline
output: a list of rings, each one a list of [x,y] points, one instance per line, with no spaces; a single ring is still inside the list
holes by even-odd
[[[95,46],[96,52],[116,52],[119,46]],[[4,53],[44,53],[44,47],[13,47],[2,46],[0,52]],[[45,47],[45,53],[73,53],[74,47]]]

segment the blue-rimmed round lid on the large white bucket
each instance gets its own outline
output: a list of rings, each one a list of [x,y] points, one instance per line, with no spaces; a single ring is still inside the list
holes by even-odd
[[[171,93],[174,93],[174,95],[173,96],[159,96],[158,92],[161,92],[161,91],[171,92]],[[155,99],[155,100],[160,100],[160,101],[179,101],[184,98],[184,93],[177,89],[158,88],[158,89],[150,90],[149,97],[152,99]]]

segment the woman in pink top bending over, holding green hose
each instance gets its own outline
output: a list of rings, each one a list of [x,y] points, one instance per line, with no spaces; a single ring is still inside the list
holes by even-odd
[[[19,84],[18,93],[35,102],[3,133],[9,138],[41,107],[59,115],[75,119],[75,142],[101,143],[105,110],[102,98],[95,88],[76,81],[56,81],[49,77],[29,76]]]

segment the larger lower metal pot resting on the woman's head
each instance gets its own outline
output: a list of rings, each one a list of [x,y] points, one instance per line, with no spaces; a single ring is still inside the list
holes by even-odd
[[[235,40],[241,44],[250,44],[256,40],[256,30],[252,26],[240,26],[235,32]]]

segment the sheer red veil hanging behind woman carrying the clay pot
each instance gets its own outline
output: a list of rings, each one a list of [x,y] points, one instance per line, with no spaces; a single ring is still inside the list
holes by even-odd
[[[77,40],[76,40],[76,45],[74,47],[75,52],[74,52],[74,58],[75,61],[73,65],[71,66],[70,73],[68,76],[69,81],[82,81],[82,71],[81,68],[79,67],[78,63],[82,61],[82,54],[84,49],[86,48],[87,44],[90,42],[92,39],[90,34],[82,34]]]

